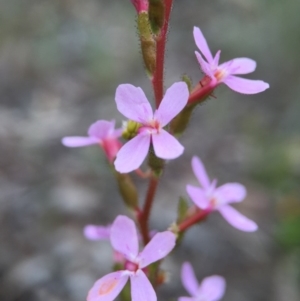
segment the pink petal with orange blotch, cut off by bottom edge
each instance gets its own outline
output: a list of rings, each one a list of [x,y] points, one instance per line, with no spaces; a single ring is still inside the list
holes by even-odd
[[[127,271],[110,273],[95,282],[87,296],[87,301],[112,301],[114,300],[128,280]]]

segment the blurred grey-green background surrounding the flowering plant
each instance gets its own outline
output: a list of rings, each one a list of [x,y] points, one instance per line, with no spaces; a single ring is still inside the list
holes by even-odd
[[[243,233],[218,213],[193,227],[165,261],[170,283],[159,300],[187,295],[180,267],[199,280],[227,280],[224,301],[300,299],[300,18],[299,0],[175,0],[166,55],[166,87],[202,74],[193,26],[221,62],[257,61],[248,78],[271,88],[253,96],[221,86],[199,106],[169,162],[151,226],[176,219],[178,197],[196,184],[193,155],[219,184],[241,182],[238,210],[259,225]],[[120,83],[153,100],[129,0],[0,1],[0,300],[80,301],[112,265],[111,247],[82,235],[88,223],[127,214],[101,150],[68,149],[63,136],[85,135],[98,119],[122,116]],[[142,203],[146,182],[134,176]]]

